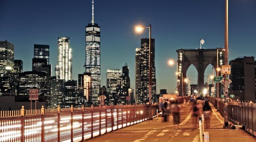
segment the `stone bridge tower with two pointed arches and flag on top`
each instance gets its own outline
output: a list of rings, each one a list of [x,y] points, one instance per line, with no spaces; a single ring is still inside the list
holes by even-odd
[[[203,93],[204,88],[204,71],[206,67],[211,64],[215,71],[217,72],[217,48],[216,49],[179,49],[176,50],[178,53],[178,65],[179,65],[179,94],[182,96],[182,81],[181,73],[183,80],[186,78],[187,70],[191,64],[196,67],[198,72],[198,94]],[[220,61],[224,59],[224,52],[218,50],[219,54],[219,67],[221,67]],[[219,75],[221,72],[219,71]],[[188,94],[186,89],[186,82],[183,81],[183,94],[186,96]],[[221,85],[219,86],[219,90]],[[192,93],[192,92],[191,92]]]

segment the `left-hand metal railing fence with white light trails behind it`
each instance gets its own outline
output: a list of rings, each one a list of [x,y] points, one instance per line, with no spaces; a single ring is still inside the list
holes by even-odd
[[[22,108],[20,116],[0,118],[0,141],[83,141],[155,117],[156,107],[153,104],[42,108],[39,114]]]

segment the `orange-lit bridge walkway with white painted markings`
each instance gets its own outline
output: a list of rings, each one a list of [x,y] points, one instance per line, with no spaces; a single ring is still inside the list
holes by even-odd
[[[181,105],[181,124],[174,125],[171,116],[164,122],[163,117],[154,118],[130,127],[119,129],[87,142],[200,142],[199,128],[194,129],[192,124],[191,104]],[[211,105],[212,115],[209,132],[212,142],[256,142],[256,138],[241,129],[223,129],[224,118]],[[202,112],[202,110],[201,110]],[[199,125],[197,125],[199,127]]]

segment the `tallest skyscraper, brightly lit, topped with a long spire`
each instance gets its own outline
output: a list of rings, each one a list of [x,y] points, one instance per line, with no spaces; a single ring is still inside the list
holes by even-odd
[[[85,72],[92,77],[92,102],[98,104],[100,88],[100,27],[94,22],[94,1],[92,21],[85,28]]]

